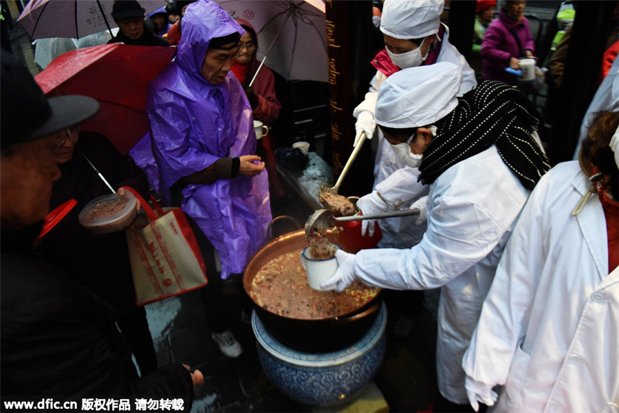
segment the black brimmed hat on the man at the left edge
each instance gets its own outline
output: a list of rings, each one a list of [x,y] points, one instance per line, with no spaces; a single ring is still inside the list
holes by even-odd
[[[4,50],[0,63],[1,148],[80,124],[99,111],[99,103],[88,96],[46,98],[30,71]]]

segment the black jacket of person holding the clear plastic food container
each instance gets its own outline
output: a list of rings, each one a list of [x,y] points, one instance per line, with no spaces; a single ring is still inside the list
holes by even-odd
[[[99,133],[80,132],[73,158],[58,165],[62,175],[54,182],[50,210],[76,199],[76,206],[41,241],[37,252],[50,263],[85,284],[124,317],[135,306],[135,292],[124,231],[92,234],[80,225],[80,211],[93,199],[111,193],[88,159],[118,190],[130,186],[149,199],[146,175],[127,156],[121,156]]]

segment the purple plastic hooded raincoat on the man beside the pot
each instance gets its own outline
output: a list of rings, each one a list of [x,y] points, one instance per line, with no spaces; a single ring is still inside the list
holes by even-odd
[[[256,153],[252,109],[235,75],[230,71],[221,85],[212,85],[200,74],[210,39],[233,32],[245,30],[217,3],[193,3],[183,16],[175,60],[149,83],[151,133],[130,154],[166,201],[181,177],[221,157]],[[242,273],[271,221],[266,169],[255,177],[189,185],[183,195],[182,209],[219,253],[221,278]]]

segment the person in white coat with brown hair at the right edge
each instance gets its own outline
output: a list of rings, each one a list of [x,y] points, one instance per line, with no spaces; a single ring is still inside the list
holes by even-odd
[[[600,113],[529,197],[462,360],[475,410],[501,385],[497,412],[619,411],[618,126]]]

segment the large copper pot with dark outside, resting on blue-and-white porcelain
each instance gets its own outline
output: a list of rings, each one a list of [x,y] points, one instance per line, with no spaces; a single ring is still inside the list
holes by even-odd
[[[327,238],[337,243],[337,234],[328,234]],[[273,258],[303,249],[307,246],[305,230],[289,232],[270,241],[260,249],[247,265],[243,274],[243,287],[250,292],[252,280]],[[358,309],[337,317],[318,320],[301,320],[286,317],[263,309],[254,301],[254,309],[268,332],[284,346],[306,353],[328,353],[346,348],[358,342],[367,332],[380,310],[381,293]]]

